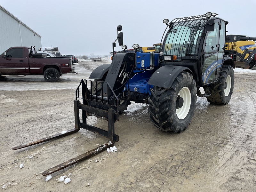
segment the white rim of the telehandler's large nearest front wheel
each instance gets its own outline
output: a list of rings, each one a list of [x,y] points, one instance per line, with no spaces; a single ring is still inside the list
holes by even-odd
[[[179,92],[180,97],[183,98],[184,103],[181,108],[176,109],[176,115],[179,119],[184,119],[189,112],[190,105],[191,105],[191,93],[188,87],[182,87]]]

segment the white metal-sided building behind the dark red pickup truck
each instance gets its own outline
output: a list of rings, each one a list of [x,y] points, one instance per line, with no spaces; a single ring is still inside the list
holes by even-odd
[[[9,47],[42,47],[41,36],[0,5],[0,54]]]

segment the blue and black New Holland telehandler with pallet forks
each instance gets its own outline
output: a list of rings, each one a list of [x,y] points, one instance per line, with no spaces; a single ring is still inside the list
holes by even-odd
[[[188,127],[197,96],[207,97],[212,104],[227,104],[233,92],[235,65],[231,58],[224,57],[228,22],[216,16],[208,12],[171,22],[163,20],[167,27],[159,53],[139,52],[138,44],[133,45],[136,51],[127,51],[122,26],[118,26],[116,41],[124,52],[114,55],[115,41],[111,65],[92,71],[89,78],[94,80],[81,80],[74,100],[75,128],[13,149],[64,137],[80,128],[108,138],[106,144],[42,173],[48,175],[113,146],[119,140],[115,122],[131,101],[148,103],[150,120],[166,132],[181,132]],[[107,120],[108,131],[87,124],[86,118],[92,115]]]

